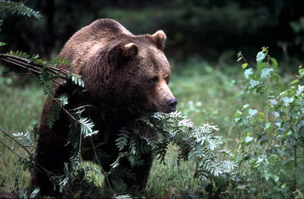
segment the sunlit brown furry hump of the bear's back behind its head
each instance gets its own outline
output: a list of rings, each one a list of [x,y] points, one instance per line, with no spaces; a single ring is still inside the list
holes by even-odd
[[[70,65],[61,64],[59,68],[81,75],[82,64],[109,39],[119,35],[133,36],[124,26],[112,19],[98,19],[77,31],[64,45],[58,57],[68,59]]]

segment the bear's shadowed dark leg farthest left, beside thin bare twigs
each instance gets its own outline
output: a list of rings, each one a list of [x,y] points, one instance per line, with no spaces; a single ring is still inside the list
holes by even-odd
[[[59,194],[58,186],[54,190],[50,177],[62,174],[64,162],[68,161],[70,153],[70,146],[66,146],[70,123],[68,117],[61,112],[60,118],[52,128],[47,125],[52,106],[54,106],[54,101],[49,100],[44,105],[31,176],[31,187],[39,187],[42,196]]]

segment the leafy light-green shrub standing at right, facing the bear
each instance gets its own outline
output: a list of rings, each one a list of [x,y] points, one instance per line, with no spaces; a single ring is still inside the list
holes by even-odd
[[[243,57],[248,90],[263,98],[265,107],[245,104],[235,113],[234,124],[242,131],[235,160],[240,164],[236,178],[242,194],[271,198],[300,198],[304,184],[304,70],[298,68],[294,80],[281,82],[278,62],[263,47],[256,55],[256,68]],[[242,170],[246,168],[246,170]]]

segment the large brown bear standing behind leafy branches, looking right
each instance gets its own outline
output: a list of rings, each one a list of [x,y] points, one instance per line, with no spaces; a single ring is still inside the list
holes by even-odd
[[[59,54],[70,64],[61,64],[58,68],[80,75],[88,91],[85,96],[72,95],[66,110],[83,102],[115,109],[106,112],[104,118],[100,110],[88,114],[95,123],[95,129],[99,130],[92,137],[94,145],[102,143],[100,147],[109,156],[107,161],[100,162],[105,172],[109,172],[110,164],[119,155],[115,140],[121,127],[135,121],[141,114],[176,110],[177,100],[168,87],[170,66],[163,52],[165,39],[162,30],[153,35],[135,36],[115,20],[99,19],[76,32]],[[69,92],[66,86],[57,85],[53,96]],[[31,186],[40,187],[42,195],[58,194],[58,188],[54,190],[46,170],[49,174],[62,172],[71,150],[71,146],[66,144],[71,118],[61,110],[52,128],[47,125],[48,114],[55,103],[46,100],[43,108],[31,178]],[[147,128],[143,126],[142,129]],[[92,148],[82,150],[83,159],[94,160],[94,157]],[[123,179],[128,188],[143,189],[146,185],[153,161],[152,152],[143,154],[141,158],[144,164],[139,167],[130,167],[127,160],[122,162],[135,173],[136,179]]]

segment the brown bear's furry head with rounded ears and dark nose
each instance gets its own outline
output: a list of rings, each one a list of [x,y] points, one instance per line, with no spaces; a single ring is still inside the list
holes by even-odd
[[[165,39],[162,30],[113,37],[86,68],[86,89],[116,108],[140,113],[175,111],[177,100],[168,87],[170,66],[163,52]]]

